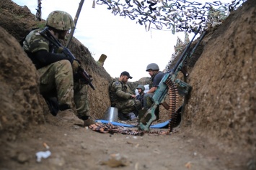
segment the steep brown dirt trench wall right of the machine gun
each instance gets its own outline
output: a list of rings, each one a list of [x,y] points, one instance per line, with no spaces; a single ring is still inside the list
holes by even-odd
[[[193,90],[182,126],[255,155],[256,1],[246,1],[206,39],[188,80]]]

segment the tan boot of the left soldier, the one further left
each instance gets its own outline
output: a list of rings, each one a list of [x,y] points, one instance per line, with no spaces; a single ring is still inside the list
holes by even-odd
[[[66,109],[63,111],[58,112],[57,114],[58,118],[61,118],[63,121],[73,123],[74,125],[77,126],[84,126],[84,121],[79,119],[74,111],[72,109]]]

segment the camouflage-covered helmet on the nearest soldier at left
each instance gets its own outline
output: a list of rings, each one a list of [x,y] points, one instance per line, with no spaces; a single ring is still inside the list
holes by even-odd
[[[66,11],[52,11],[46,19],[46,25],[61,31],[69,31],[75,27],[72,16]]]

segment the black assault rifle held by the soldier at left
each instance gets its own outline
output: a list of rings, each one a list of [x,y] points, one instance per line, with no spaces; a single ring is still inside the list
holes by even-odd
[[[44,33],[46,33],[47,35],[45,35]],[[58,39],[56,39],[56,37],[54,37],[53,34],[49,32],[48,27],[45,27],[45,29],[43,29],[43,31],[40,32],[40,34],[43,37],[45,37],[45,39],[48,39],[50,42],[52,42],[57,49],[61,48],[63,54],[66,55],[66,57],[71,58],[73,60],[76,59],[76,57],[74,57],[74,55],[69,51],[69,49],[64,47],[60,42],[58,42]],[[79,67],[79,70],[77,72],[84,79],[85,83],[89,84],[89,86],[93,90],[95,90],[94,85],[92,85],[92,76],[90,76],[81,66]]]

